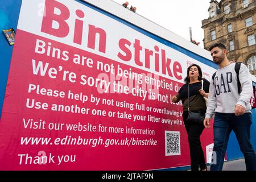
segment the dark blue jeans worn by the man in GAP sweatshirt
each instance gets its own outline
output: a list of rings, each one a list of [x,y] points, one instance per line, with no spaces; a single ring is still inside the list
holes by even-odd
[[[240,150],[245,156],[246,170],[256,170],[256,155],[250,143],[250,127],[251,113],[245,113],[238,117],[234,114],[215,114],[213,123],[214,146],[210,171],[222,170],[226,147],[232,130],[236,134]]]

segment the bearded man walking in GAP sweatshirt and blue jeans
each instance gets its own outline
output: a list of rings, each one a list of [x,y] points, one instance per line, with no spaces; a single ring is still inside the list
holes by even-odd
[[[218,70],[210,80],[207,113],[204,126],[209,127],[210,118],[214,116],[213,159],[211,171],[221,171],[224,163],[229,135],[233,130],[240,149],[245,156],[247,170],[256,170],[256,155],[250,143],[251,105],[249,100],[253,94],[251,75],[244,64],[241,64],[239,80],[241,93],[238,93],[236,63],[230,63],[224,44],[214,44],[209,49]]]

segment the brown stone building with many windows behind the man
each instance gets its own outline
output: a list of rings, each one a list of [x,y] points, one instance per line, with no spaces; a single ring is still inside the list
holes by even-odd
[[[245,63],[256,76],[256,0],[212,0],[208,12],[202,21],[204,48],[224,43],[228,59]]]

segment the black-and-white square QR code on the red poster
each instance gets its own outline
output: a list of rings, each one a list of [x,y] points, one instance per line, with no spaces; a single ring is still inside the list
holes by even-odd
[[[180,155],[180,132],[166,131],[166,156]]]

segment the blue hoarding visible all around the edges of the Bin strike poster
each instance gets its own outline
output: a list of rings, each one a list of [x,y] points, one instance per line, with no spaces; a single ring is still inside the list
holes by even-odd
[[[152,39],[155,39],[156,41],[158,41],[162,44],[165,44],[168,47],[174,48],[177,51],[182,52],[185,55],[192,57],[193,59],[198,60],[203,64],[207,64],[210,67],[217,69],[217,65],[214,64],[211,60],[205,59],[204,57],[202,57],[200,55],[196,55],[195,53],[193,53],[183,47],[177,46],[176,44],[171,43],[168,40],[160,38],[157,35],[151,34],[150,32],[143,30],[140,27],[134,26],[133,24],[126,22],[125,20],[118,18],[117,16],[112,15],[104,10],[100,10],[93,5],[90,5],[89,3],[83,2],[81,0],[76,0],[76,1],[84,4],[85,6],[88,6],[88,7],[92,8],[93,10],[96,10],[106,16],[109,16],[110,18],[113,18],[113,19],[121,22],[121,23],[125,24],[126,26],[129,26],[129,27],[133,28],[134,30],[137,30],[138,32],[141,32],[142,34],[144,34]],[[6,89],[9,68],[10,68],[11,55],[13,53],[13,47],[14,47],[14,46],[9,45],[2,30],[14,28],[14,30],[16,31],[21,4],[22,4],[22,0],[10,0],[10,1],[3,1],[3,2],[1,2],[1,5],[0,5],[0,31],[2,32],[0,34],[0,47],[1,47],[1,49],[0,49],[0,55],[1,55],[1,61],[0,61],[0,114],[2,113],[3,99],[5,96],[5,89]],[[255,82],[253,84],[256,86]],[[251,125],[252,126],[251,127],[251,143],[253,144],[254,149],[256,149],[256,111],[255,111],[255,109],[252,110],[252,116],[253,116],[252,117],[253,125]],[[228,160],[236,160],[236,159],[243,158],[243,154],[240,151],[240,147],[238,145],[236,135],[234,135],[233,132],[230,135],[228,148],[227,148],[227,156],[228,156]],[[190,166],[185,166],[185,167],[169,168],[169,169],[164,169],[164,170],[171,170],[171,171],[179,170],[180,171],[180,170],[187,170],[189,168],[190,168]]]

